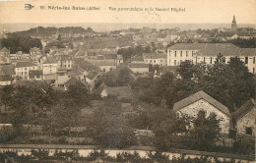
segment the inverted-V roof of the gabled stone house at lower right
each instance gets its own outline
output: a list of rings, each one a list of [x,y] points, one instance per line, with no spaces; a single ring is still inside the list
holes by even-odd
[[[220,103],[219,101],[217,101],[216,99],[214,99],[213,97],[205,93],[204,91],[198,91],[197,93],[192,94],[189,97],[176,102],[173,106],[173,111],[178,111],[200,99],[205,99],[206,101],[214,105],[217,109],[219,109],[221,112],[223,112],[227,116],[230,116],[230,112],[227,109],[227,107],[225,107],[222,103]]]

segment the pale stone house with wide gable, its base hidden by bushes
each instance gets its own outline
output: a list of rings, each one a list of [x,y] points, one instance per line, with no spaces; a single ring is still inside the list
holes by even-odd
[[[229,134],[229,123],[231,118],[229,110],[222,103],[204,91],[198,91],[197,93],[176,102],[173,106],[173,111],[177,112],[178,115],[187,115],[191,118],[196,118],[200,111],[204,111],[207,117],[211,113],[215,113],[217,118],[221,120],[221,133],[224,135]]]

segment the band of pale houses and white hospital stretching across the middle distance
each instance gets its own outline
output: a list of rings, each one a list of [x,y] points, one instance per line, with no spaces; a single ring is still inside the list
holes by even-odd
[[[231,43],[176,43],[168,47],[166,53],[143,53],[132,57],[127,64],[116,50],[79,49],[73,52],[68,48],[52,47],[49,54],[42,54],[39,48],[33,47],[29,54],[22,51],[10,54],[4,47],[0,50],[0,84],[10,84],[13,79],[43,80],[63,87],[67,80],[75,78],[94,88],[95,77],[121,66],[135,74],[148,74],[150,65],[176,67],[186,60],[213,65],[219,54],[224,56],[226,63],[232,57],[240,58],[249,72],[256,74],[256,49],[239,48]]]

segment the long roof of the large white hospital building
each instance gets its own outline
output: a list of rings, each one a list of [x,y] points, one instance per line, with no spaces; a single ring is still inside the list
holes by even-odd
[[[239,47],[231,43],[177,43],[168,48],[169,50],[199,50],[197,55],[203,56],[217,56],[222,54],[224,56],[238,55]]]

